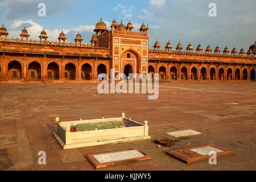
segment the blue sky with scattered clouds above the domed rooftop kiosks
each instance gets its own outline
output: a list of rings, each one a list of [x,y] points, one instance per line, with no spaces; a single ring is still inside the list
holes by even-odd
[[[45,3],[46,16],[38,16],[39,3]],[[210,3],[216,3],[217,16],[210,17]],[[200,43],[230,51],[235,46],[245,51],[256,41],[255,0],[0,0],[0,23],[4,24],[10,38],[20,38],[24,26],[31,39],[39,39],[46,30],[50,41],[57,41],[61,30],[68,42],[74,42],[80,32],[83,43],[90,43],[95,24],[100,20],[108,30],[112,20],[129,20],[134,31],[148,23],[149,47],[156,39],[164,48],[170,40],[186,48],[191,42],[194,49]]]

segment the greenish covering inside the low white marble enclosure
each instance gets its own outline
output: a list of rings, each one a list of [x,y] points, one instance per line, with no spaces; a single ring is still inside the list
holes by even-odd
[[[121,127],[126,127],[122,121],[106,121],[106,122],[97,122],[97,123],[84,123],[77,124],[75,127],[77,131],[91,131],[95,130],[104,130],[104,129],[117,129]]]

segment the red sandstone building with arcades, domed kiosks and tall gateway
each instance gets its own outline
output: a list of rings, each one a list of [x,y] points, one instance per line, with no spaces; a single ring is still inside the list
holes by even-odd
[[[19,38],[9,38],[4,26],[0,28],[0,81],[27,82],[40,80],[43,76],[51,81],[96,81],[97,75],[110,69],[117,73],[159,73],[161,80],[255,80],[256,42],[245,52],[234,47],[229,51],[217,46],[214,51],[208,46],[191,43],[186,51],[179,42],[176,51],[170,42],[160,49],[156,40],[154,49],[148,49],[148,26],[142,24],[139,32],[133,31],[129,22],[112,22],[111,30],[100,20],[94,29],[90,44],[82,43],[78,33],[75,42],[67,42],[60,33],[59,41],[48,40],[42,31],[39,40],[28,39],[24,27]],[[213,53],[214,52],[214,53]],[[231,54],[230,54],[230,53]]]

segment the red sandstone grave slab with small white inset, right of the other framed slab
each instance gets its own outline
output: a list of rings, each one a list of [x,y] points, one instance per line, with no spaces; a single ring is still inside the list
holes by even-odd
[[[182,148],[179,150],[167,151],[166,154],[172,156],[175,159],[181,160],[184,163],[193,163],[200,160],[207,160],[212,155],[209,155],[210,151],[215,151],[218,156],[234,154],[232,151],[225,150],[224,148],[213,146],[208,144],[205,146]]]

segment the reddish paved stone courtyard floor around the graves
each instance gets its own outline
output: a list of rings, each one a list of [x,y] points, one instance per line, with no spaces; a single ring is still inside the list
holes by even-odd
[[[152,160],[101,170],[256,170],[256,82],[162,82],[158,100],[147,94],[96,94],[96,83],[0,84],[0,170],[94,170],[86,154],[138,148]],[[151,139],[63,150],[53,137],[60,121],[126,117],[148,121]],[[202,133],[158,148],[167,132]],[[170,139],[174,139],[171,138]],[[167,150],[215,144],[234,155],[185,164]],[[46,151],[46,165],[38,152]]]

